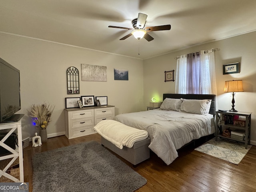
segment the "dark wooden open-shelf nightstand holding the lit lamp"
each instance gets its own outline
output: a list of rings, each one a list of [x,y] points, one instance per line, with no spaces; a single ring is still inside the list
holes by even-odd
[[[250,144],[251,114],[251,112],[216,111],[215,140],[217,141],[217,138],[220,137],[243,142],[245,144],[245,148],[247,149],[247,145]],[[242,116],[244,118],[244,124],[240,124],[240,126],[234,125],[234,121],[236,121],[234,116]],[[232,130],[240,130],[240,132],[244,133],[244,139],[223,136],[221,134],[222,126],[231,128]]]

